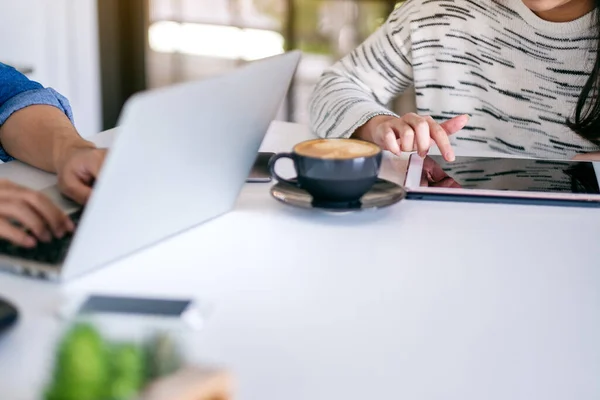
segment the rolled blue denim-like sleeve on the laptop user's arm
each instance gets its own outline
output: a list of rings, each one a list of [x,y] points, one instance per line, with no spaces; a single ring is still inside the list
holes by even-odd
[[[69,101],[52,88],[44,88],[25,75],[0,63],[0,126],[15,112],[32,105],[50,105],[65,113],[73,122]],[[12,160],[0,145],[0,160]]]

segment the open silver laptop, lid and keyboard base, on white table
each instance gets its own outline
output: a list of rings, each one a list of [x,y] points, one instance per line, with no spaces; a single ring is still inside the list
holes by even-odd
[[[0,268],[65,281],[230,211],[300,58],[132,96],[85,209],[56,186],[44,191],[75,232],[34,249],[1,241]]]

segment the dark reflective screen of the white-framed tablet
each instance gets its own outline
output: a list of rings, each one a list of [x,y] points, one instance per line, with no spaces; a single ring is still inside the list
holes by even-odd
[[[600,194],[591,162],[511,158],[427,156],[421,187]]]

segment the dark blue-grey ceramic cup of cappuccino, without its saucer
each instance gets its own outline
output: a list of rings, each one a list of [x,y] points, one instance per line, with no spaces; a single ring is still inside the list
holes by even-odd
[[[277,161],[290,158],[297,178],[282,178],[275,172]],[[279,153],[269,162],[271,175],[279,182],[298,186],[319,205],[356,203],[377,182],[382,152],[374,143],[357,139],[313,139]]]

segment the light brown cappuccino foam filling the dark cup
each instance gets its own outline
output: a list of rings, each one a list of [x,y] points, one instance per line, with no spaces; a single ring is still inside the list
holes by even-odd
[[[356,139],[316,139],[298,144],[294,151],[305,157],[345,160],[374,156],[381,151],[374,143]]]

